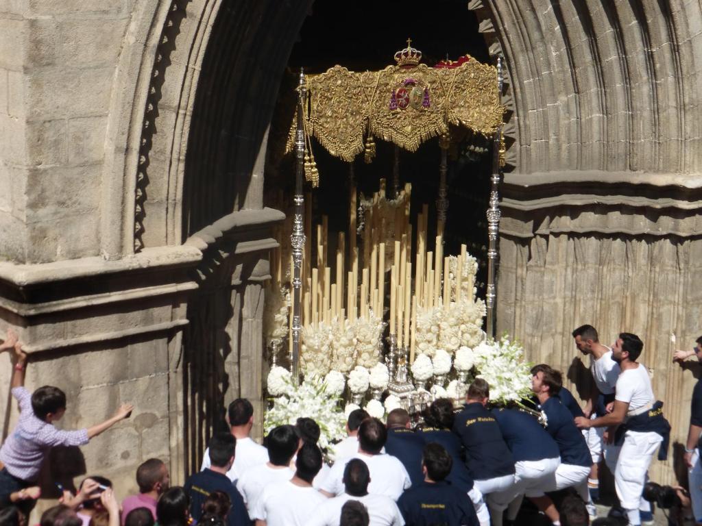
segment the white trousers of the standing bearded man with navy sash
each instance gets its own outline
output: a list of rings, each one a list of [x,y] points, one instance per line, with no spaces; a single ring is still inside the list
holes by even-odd
[[[616,457],[614,487],[621,507],[626,511],[638,511],[651,460],[662,441],[663,437],[653,431],[627,431],[618,452],[611,450],[607,465]]]

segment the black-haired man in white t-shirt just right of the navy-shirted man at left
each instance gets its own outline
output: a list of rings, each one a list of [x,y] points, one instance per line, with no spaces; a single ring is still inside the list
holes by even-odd
[[[253,510],[256,509],[258,497],[263,492],[263,488],[270,484],[287,482],[293,478],[295,472],[290,468],[290,461],[302,446],[302,440],[298,438],[295,427],[289,425],[271,429],[266,443],[270,460],[265,464],[247,469],[237,480],[237,490],[244,498],[251,520],[256,519],[253,516]]]

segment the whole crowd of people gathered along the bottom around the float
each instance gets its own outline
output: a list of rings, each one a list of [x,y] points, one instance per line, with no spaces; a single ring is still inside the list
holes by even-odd
[[[596,516],[601,459],[614,473],[623,522],[597,522],[650,522],[647,471],[657,450],[665,457],[670,426],[638,361],[643,342],[623,332],[609,348],[590,325],[573,337],[590,357],[594,380],[584,407],[564,388],[561,372],[541,364],[531,370],[529,400],[491,404],[489,384],[477,378],[460,410],[439,398],[420,424],[403,409],[386,422],[354,410],[347,438],[323,452],[324,422],[307,417],[272,429],[259,445],[251,438],[253,406],[237,399],[226,414],[230,430],[214,433],[201,471],[182,487],[171,486],[163,461],[149,459],[135,474],[138,494],[119,504],[110,480],[89,476],[75,492],[60,488],[63,496],[41,515],[41,526],[502,526],[516,524],[524,508],[533,514],[522,523],[580,526]],[[0,449],[0,525],[20,526],[41,494],[37,476],[47,450],[83,445],[133,407],[121,405],[88,429],[58,430],[53,422],[65,412],[65,394],[51,386],[31,394],[24,388],[27,356],[12,332],[0,351],[11,355],[12,394],[20,405],[19,422]],[[702,337],[694,354],[702,360]],[[691,354],[678,351],[674,358]],[[697,480],[691,497],[698,523],[700,385],[685,454]],[[325,459],[333,459],[331,466]]]

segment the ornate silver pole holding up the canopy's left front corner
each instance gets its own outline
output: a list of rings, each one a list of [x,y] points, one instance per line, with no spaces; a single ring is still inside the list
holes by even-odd
[[[295,217],[293,219],[293,233],[290,242],[293,249],[293,356],[292,373],[293,383],[300,382],[300,313],[302,311],[302,268],[303,250],[305,249],[305,194],[303,192],[303,180],[305,177],[305,128],[304,128],[304,105],[307,97],[305,88],[305,74],[300,69],[300,85],[298,86],[298,122],[295,140],[296,149],[296,172],[295,172]]]

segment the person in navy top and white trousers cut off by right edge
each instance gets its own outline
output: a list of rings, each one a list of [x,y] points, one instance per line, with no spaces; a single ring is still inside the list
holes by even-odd
[[[702,362],[702,336],[695,340],[694,349],[691,351],[675,351],[673,361],[682,363],[694,356]],[[687,479],[690,487],[692,513],[695,523],[702,525],[702,466],[700,465],[700,439],[702,438],[702,377],[697,381],[692,390],[690,404],[690,426],[687,431],[684,461],[687,464]]]

